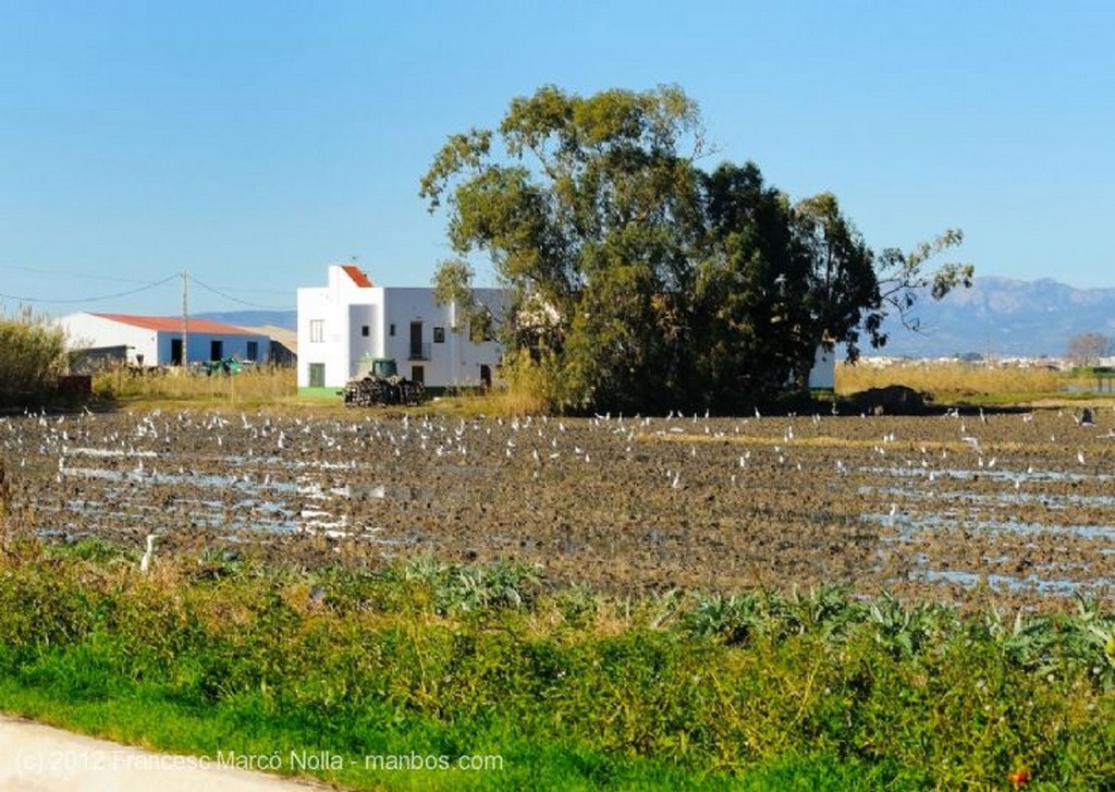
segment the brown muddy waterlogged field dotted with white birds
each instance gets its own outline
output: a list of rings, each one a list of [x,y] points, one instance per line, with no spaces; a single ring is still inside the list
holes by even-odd
[[[18,523],[375,567],[537,562],[615,593],[844,582],[964,606],[1115,602],[1115,412],[0,419]],[[157,553],[156,553],[157,554]]]

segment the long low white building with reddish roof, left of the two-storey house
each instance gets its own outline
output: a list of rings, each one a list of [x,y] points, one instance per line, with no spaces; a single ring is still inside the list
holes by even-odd
[[[235,357],[265,363],[271,348],[271,339],[265,335],[210,319],[71,313],[57,322],[66,332],[67,347],[87,361],[151,367]]]

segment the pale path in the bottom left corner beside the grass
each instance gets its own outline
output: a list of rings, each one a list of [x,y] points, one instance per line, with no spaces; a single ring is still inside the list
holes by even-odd
[[[216,757],[157,754],[0,716],[0,792],[308,792]]]

